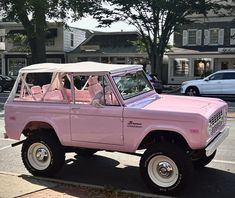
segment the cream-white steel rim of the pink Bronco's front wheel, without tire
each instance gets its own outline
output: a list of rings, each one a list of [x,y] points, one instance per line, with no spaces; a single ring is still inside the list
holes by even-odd
[[[149,161],[148,174],[156,185],[162,187],[174,185],[179,177],[174,161],[164,155],[155,156]]]

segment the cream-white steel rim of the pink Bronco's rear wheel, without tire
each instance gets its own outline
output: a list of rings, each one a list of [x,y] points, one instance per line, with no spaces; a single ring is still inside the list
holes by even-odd
[[[28,160],[37,170],[45,170],[51,163],[50,150],[42,143],[34,143],[28,149]]]

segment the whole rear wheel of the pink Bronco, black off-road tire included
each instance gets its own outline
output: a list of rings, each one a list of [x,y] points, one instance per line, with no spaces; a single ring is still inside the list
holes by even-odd
[[[40,131],[24,142],[21,157],[26,169],[35,176],[54,176],[63,167],[65,152],[56,135]]]

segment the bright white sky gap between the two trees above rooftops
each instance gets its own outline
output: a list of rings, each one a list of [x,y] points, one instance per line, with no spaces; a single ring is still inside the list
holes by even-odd
[[[92,17],[85,17],[76,22],[68,22],[68,25],[72,27],[101,31],[101,32],[121,32],[121,31],[126,32],[126,31],[136,30],[134,26],[128,25],[124,22],[114,23],[113,25],[107,28],[97,28],[98,22]]]

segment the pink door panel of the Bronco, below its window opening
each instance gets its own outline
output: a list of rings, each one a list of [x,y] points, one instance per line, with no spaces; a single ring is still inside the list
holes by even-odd
[[[123,145],[123,107],[71,105],[72,141]]]

